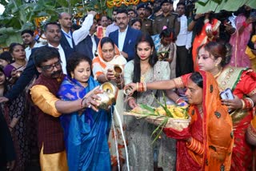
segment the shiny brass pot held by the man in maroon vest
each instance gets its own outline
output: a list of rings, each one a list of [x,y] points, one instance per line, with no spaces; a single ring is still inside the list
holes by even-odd
[[[110,109],[111,105],[116,103],[116,94],[118,89],[111,84],[110,82],[103,83],[99,89],[103,90],[103,93],[98,93],[98,97],[101,97],[102,100],[98,101],[100,105],[98,106],[99,109]]]

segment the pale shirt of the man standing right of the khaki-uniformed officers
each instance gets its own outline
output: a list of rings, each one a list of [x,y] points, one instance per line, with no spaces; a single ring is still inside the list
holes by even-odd
[[[187,18],[186,15],[180,17],[181,28],[177,36],[176,45],[177,46],[186,46],[186,49],[189,50],[192,42],[192,32],[187,30]]]

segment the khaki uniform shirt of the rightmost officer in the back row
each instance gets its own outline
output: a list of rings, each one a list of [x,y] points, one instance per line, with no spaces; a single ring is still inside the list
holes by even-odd
[[[161,34],[163,26],[167,26],[169,29],[173,29],[175,32],[175,38],[180,30],[180,22],[177,14],[167,14],[166,17],[162,14],[155,18],[153,25],[153,34]]]

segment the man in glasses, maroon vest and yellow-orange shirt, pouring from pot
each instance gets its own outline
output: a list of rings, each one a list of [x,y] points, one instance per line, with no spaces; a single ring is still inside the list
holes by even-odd
[[[86,98],[76,101],[61,101],[56,94],[65,75],[62,74],[62,60],[58,50],[43,46],[38,48],[31,58],[40,73],[30,89],[30,95],[37,106],[41,169],[66,171],[68,166],[64,133],[59,117],[61,113],[72,113],[90,106],[94,109],[98,103],[93,99],[100,100],[96,93],[101,91],[93,90],[94,93],[86,94]]]

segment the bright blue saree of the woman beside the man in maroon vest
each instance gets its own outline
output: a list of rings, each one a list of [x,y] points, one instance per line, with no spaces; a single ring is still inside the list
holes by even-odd
[[[92,77],[84,88],[78,81],[64,78],[58,96],[64,101],[82,98],[98,85]],[[92,109],[63,114],[66,154],[69,170],[110,170],[110,149],[107,144],[110,131],[110,113]]]

